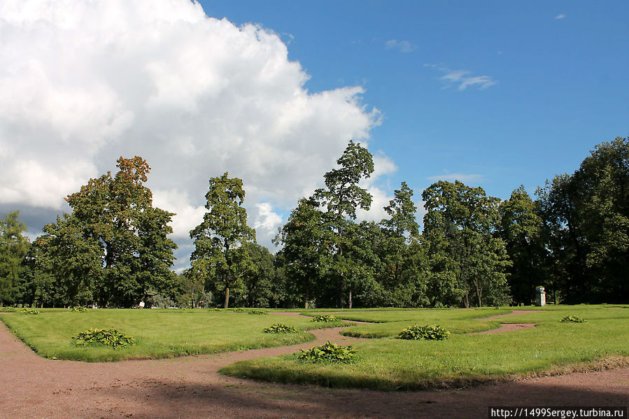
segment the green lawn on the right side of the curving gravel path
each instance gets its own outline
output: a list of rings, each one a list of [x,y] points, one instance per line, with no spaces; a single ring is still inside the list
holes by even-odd
[[[497,321],[480,322],[502,310],[416,310],[384,313],[339,313],[352,320],[381,321],[346,330],[356,336],[386,336],[355,343],[351,364],[308,364],[297,355],[238,362],[223,374],[286,383],[313,383],[332,387],[415,390],[463,386],[518,375],[592,366],[613,359],[629,360],[629,307],[548,306],[499,322],[532,322],[535,329],[502,334],[466,335],[477,327],[497,327]],[[517,309],[517,308],[516,308]],[[535,309],[528,307],[528,309]],[[565,315],[579,315],[585,323],[562,323]],[[480,325],[474,326],[474,323]],[[439,324],[453,332],[446,341],[402,341],[402,329],[418,323]],[[607,360],[607,361],[604,361]]]

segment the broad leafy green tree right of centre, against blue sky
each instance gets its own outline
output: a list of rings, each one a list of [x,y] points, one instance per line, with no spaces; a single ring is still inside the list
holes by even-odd
[[[462,294],[466,307],[470,295],[478,306],[483,297],[491,304],[507,302],[504,269],[509,261],[504,242],[493,234],[500,200],[458,180],[433,183],[422,197],[433,275],[448,284],[446,294],[450,298]]]

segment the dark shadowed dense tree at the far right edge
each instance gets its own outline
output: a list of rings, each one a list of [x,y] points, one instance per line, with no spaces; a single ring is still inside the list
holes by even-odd
[[[595,147],[537,192],[564,301],[628,301],[629,139]]]

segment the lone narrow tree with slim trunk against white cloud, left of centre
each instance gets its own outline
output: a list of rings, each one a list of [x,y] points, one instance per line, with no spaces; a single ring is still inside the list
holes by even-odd
[[[242,247],[255,241],[255,230],[247,225],[247,210],[242,180],[229,178],[225,172],[209,180],[205,195],[209,210],[203,222],[190,231],[195,250],[190,262],[201,271],[207,283],[225,292],[224,307],[229,306],[229,290],[243,290],[243,278],[253,269],[250,257]]]

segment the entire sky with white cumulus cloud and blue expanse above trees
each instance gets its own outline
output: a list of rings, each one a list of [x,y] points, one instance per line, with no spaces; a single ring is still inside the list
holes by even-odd
[[[508,199],[629,133],[629,2],[0,0],[0,215],[29,236],[140,155],[176,215],[176,269],[208,180],[243,179],[271,239],[350,139],[374,155],[360,219],[405,181]]]

